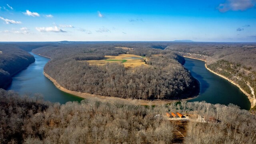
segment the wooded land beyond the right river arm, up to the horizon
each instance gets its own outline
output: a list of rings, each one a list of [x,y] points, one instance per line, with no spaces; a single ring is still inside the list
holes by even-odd
[[[166,49],[207,60],[211,70],[230,78],[253,97],[249,86],[256,91],[255,43],[178,43]]]

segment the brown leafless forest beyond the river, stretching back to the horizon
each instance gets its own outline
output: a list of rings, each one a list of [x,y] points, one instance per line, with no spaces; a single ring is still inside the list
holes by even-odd
[[[15,72],[33,62],[29,54],[21,52],[20,49],[23,49],[51,57],[52,61],[46,65],[45,71],[63,87],[91,94],[142,99],[172,99],[190,95],[188,91],[193,89],[195,82],[181,65],[184,58],[174,52],[207,60],[211,70],[230,78],[252,97],[251,88],[256,90],[255,43],[63,41],[2,43],[0,46],[1,51],[5,51],[5,55],[1,54],[0,57],[1,87],[10,84],[10,77]],[[116,46],[134,50],[123,50]],[[86,62],[78,63],[125,53],[146,56],[149,58],[147,64],[151,67],[125,70],[122,64],[97,67]],[[154,54],[162,56],[154,58]],[[17,66],[9,67],[10,63],[17,63]],[[113,86],[115,88],[110,90]]]

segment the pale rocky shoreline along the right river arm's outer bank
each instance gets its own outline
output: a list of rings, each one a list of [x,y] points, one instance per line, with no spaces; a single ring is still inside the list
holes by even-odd
[[[189,57],[189,56],[183,56],[183,57],[185,57],[185,58],[192,58],[192,57]],[[227,78],[226,76],[223,76],[223,75],[221,75],[221,74],[218,74],[218,73],[214,72],[213,70],[211,70],[210,68],[208,68],[207,65],[206,65],[206,62],[207,62],[206,60],[203,60],[203,59],[200,59],[200,58],[192,58],[192,59],[204,61],[204,62],[205,62],[205,63],[204,63],[204,66],[205,66],[205,68],[206,68],[207,70],[209,70],[209,71],[212,72],[213,74],[216,74],[217,76],[220,76],[220,77],[224,78],[225,80],[228,80],[228,82],[230,82],[230,83],[234,84],[235,86],[237,86],[237,87],[248,97],[248,99],[249,99],[249,101],[250,101],[250,103],[251,103],[251,108],[253,108],[253,107],[255,106],[256,99],[255,99],[255,98],[252,98],[252,97],[250,96],[250,94],[248,94],[245,90],[243,90],[243,89],[242,89],[238,84],[236,84],[233,80],[230,80],[230,79]]]

